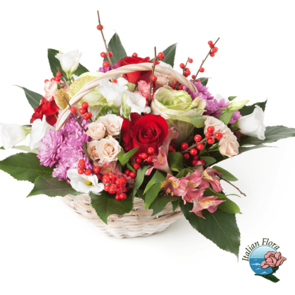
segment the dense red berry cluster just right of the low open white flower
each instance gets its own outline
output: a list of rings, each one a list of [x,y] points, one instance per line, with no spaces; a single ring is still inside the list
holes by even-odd
[[[127,192],[127,181],[125,177],[118,178],[114,174],[106,173],[102,177],[102,183],[105,185],[104,190],[106,192],[112,195],[116,193],[116,200],[125,200],[127,198],[125,194]]]

